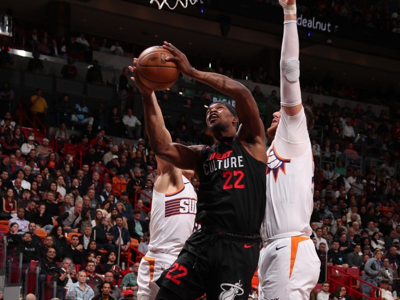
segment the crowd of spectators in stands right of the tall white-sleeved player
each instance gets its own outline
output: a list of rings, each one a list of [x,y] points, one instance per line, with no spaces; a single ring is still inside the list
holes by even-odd
[[[395,298],[400,288],[398,116],[386,111],[375,115],[371,106],[360,103],[315,105],[312,97],[306,102],[322,136],[311,139],[316,168],[311,238],[321,260],[322,282],[317,299],[328,299],[326,264],[359,268],[363,280]],[[369,295],[370,287],[361,284],[361,290]]]

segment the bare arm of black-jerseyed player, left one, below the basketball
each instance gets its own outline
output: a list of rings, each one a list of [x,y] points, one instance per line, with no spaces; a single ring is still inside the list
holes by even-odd
[[[135,72],[137,59],[129,70]],[[131,77],[143,97],[144,120],[149,136],[150,147],[154,153],[180,169],[196,170],[200,159],[201,146],[187,147],[172,143],[171,136],[166,130],[154,91],[145,87],[136,77]]]

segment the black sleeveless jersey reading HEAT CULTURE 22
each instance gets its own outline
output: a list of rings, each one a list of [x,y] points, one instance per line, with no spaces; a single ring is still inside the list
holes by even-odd
[[[196,222],[202,226],[259,233],[265,212],[266,165],[236,136],[201,149]]]

